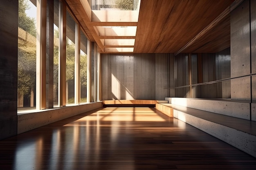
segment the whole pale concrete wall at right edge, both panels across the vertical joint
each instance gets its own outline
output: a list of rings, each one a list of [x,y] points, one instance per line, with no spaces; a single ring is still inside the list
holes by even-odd
[[[251,8],[251,9],[250,9]],[[251,102],[256,121],[256,2],[243,1],[231,12],[231,99]]]

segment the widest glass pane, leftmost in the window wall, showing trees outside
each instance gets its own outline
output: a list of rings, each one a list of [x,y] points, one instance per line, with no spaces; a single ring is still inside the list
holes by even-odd
[[[36,106],[36,3],[19,0],[18,10],[18,111],[21,111]]]

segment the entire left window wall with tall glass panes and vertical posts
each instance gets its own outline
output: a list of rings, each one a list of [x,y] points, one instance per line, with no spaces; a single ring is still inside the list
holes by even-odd
[[[95,45],[92,49],[89,49],[89,41],[86,38],[84,31],[78,26],[77,21],[73,18],[71,13],[69,13],[68,9],[66,9],[66,6],[61,4],[62,2],[59,0],[53,0],[47,4],[42,1],[44,2],[40,4],[42,8],[36,7],[36,4],[39,5],[36,0],[19,0],[18,2],[17,106],[19,113],[22,113],[20,112],[22,110],[30,110],[31,108],[52,108],[52,104],[53,106],[74,104],[75,97],[78,99],[77,103],[79,103],[79,99],[80,103],[89,102],[88,75],[90,71],[88,70],[87,65],[89,60],[89,50],[92,51],[91,57],[93,58],[93,68],[91,68],[92,73],[90,80],[92,83],[90,83],[90,89],[92,89],[91,93],[94,96],[92,101],[96,101],[97,89],[94,88],[94,86],[97,87],[97,75],[95,75],[95,73],[97,73],[97,70],[95,70],[97,69]],[[54,11],[45,11],[45,7],[52,8],[52,6],[54,7]],[[62,9],[64,9],[66,16],[63,15]],[[42,12],[40,12],[41,10]],[[61,22],[62,15],[66,22]],[[47,18],[49,16],[53,16],[54,18]],[[36,24],[36,19],[42,20],[42,23],[44,24],[46,19],[46,26],[41,23],[42,27],[40,27],[41,24],[39,24],[40,22]],[[49,23],[52,26],[47,25]],[[38,30],[36,28],[38,28]],[[62,28],[63,34],[66,35],[64,40],[61,38],[63,35],[61,33]],[[65,49],[61,46],[63,42],[65,42]],[[38,50],[40,53],[38,53]],[[64,56],[62,54],[64,54]],[[78,60],[75,60],[76,57],[78,57]],[[63,62],[60,59],[63,59]],[[65,65],[63,66],[63,64]],[[80,65],[75,67],[76,64]],[[64,70],[61,71],[63,68]],[[80,71],[75,70],[75,68],[78,68]],[[75,78],[75,73],[79,74],[78,76],[80,79],[79,77]],[[36,75],[39,75],[40,78],[36,77]],[[65,77],[63,77],[64,75]],[[63,77],[63,81],[65,81],[64,83],[66,83],[66,86],[62,86],[63,82],[59,82],[62,78],[60,76]],[[66,88],[61,89],[61,87]],[[65,93],[63,93],[63,90]],[[66,97],[66,101],[61,102],[64,101],[64,96]],[[39,102],[36,103],[36,101]]]

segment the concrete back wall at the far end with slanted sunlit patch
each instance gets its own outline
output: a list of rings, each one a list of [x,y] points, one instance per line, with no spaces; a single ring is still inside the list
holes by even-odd
[[[101,54],[101,100],[173,95],[172,64],[172,54]]]

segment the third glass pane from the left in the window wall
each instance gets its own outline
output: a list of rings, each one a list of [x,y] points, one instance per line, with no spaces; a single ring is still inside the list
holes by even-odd
[[[74,71],[75,71],[75,28],[76,22],[67,11],[66,36],[66,102],[74,103]]]

